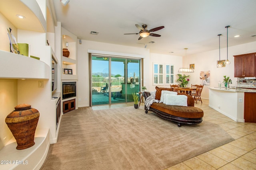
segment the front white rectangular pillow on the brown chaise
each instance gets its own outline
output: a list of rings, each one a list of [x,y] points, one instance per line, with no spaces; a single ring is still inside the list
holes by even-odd
[[[188,96],[166,94],[166,104],[176,106],[188,106]]]

